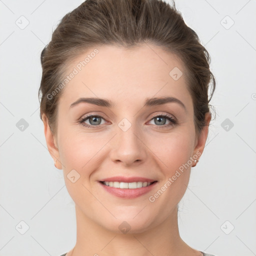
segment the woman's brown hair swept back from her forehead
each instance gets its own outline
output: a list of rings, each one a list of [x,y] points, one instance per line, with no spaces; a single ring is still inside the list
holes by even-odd
[[[209,112],[215,78],[209,70],[210,56],[194,30],[181,14],[162,0],[85,0],[68,12],[52,33],[41,52],[42,77],[40,118],[48,119],[56,132],[58,99],[63,93],[50,94],[65,75],[68,61],[96,45],[114,44],[133,47],[147,41],[177,55],[185,65],[185,77],[193,100],[194,123],[198,135]],[[211,92],[208,96],[209,83]],[[51,97],[47,96],[51,95]]]

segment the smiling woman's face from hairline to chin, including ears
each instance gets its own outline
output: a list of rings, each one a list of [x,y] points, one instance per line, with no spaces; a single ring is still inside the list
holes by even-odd
[[[59,98],[55,137],[44,122],[46,142],[86,221],[115,232],[126,221],[142,232],[176,213],[207,127],[195,136],[185,69],[173,54],[153,44],[97,49],[86,65],[93,49],[68,64],[67,75],[77,73]]]

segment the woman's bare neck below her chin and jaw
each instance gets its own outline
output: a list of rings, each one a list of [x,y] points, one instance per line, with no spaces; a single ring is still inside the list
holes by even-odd
[[[79,255],[196,255],[201,253],[190,248],[181,238],[178,231],[177,207],[163,222],[140,233],[115,233],[87,218],[75,207],[76,244],[72,253],[66,256]]]

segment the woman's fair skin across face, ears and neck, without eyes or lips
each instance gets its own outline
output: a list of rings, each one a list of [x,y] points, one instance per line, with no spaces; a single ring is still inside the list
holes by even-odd
[[[183,63],[153,44],[97,49],[99,53],[64,88],[56,134],[43,117],[49,153],[57,159],[57,168],[63,169],[66,188],[75,202],[77,240],[67,256],[202,255],[181,239],[177,224],[177,204],[185,193],[191,167],[154,202],[148,200],[190,156],[202,153],[207,138],[208,126],[196,137],[192,98],[184,75],[178,80],[169,75],[174,67],[184,74]],[[67,65],[67,74],[88,52]],[[161,96],[178,98],[185,109],[175,102],[142,107],[145,98]],[[79,97],[107,98],[115,105],[80,103],[70,108]],[[101,120],[100,124],[82,126],[79,119],[89,113],[101,115],[103,118],[96,120]],[[159,124],[152,117],[155,113],[168,113],[177,123],[167,126],[170,121],[165,119],[164,123],[163,119]],[[123,118],[131,124],[125,132],[118,126]],[[208,124],[210,113],[205,114],[205,120]],[[93,125],[93,120],[85,122]],[[74,183],[67,178],[71,169],[80,175]],[[123,199],[98,183],[117,175],[148,177],[157,184],[142,196]],[[124,220],[131,226],[126,234],[118,228]]]

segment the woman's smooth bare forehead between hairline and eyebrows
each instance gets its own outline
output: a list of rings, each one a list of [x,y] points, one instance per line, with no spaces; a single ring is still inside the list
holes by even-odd
[[[114,45],[91,48],[67,64],[65,75],[72,78],[59,103],[71,104],[85,96],[109,98],[114,103],[174,96],[191,103],[182,61],[148,43],[128,49]]]

